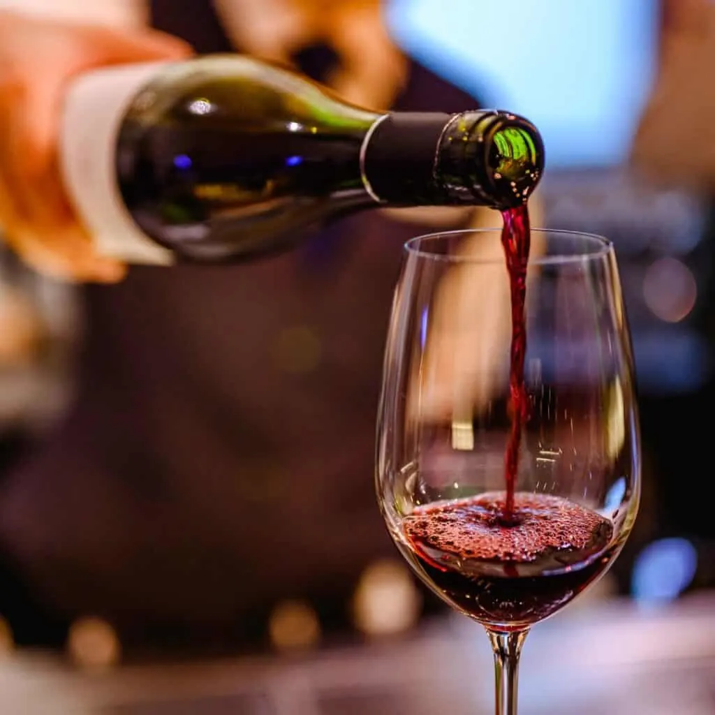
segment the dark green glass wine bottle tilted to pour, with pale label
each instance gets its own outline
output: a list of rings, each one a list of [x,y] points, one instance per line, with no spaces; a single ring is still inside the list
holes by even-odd
[[[521,204],[543,142],[508,112],[370,112],[280,66],[209,55],[76,79],[60,157],[102,254],[236,262],[369,207]]]

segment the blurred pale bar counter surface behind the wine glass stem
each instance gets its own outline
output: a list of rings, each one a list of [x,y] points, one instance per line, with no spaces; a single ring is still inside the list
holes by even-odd
[[[488,641],[463,616],[402,638],[271,658],[134,664],[102,672],[15,651],[4,715],[488,715]],[[579,604],[533,629],[523,715],[715,714],[715,593],[663,608]]]

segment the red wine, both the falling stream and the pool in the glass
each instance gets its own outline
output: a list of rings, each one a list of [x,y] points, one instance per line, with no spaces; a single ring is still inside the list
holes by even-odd
[[[611,521],[595,511],[553,495],[516,492],[529,416],[524,360],[531,230],[526,202],[502,216],[512,323],[505,490],[418,506],[403,529],[433,588],[481,623],[516,631],[575,598],[608,568],[618,546],[611,543]]]

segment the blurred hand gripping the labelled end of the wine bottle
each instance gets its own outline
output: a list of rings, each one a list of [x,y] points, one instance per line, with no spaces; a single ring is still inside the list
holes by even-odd
[[[64,193],[57,135],[66,84],[99,66],[182,59],[183,41],[152,30],[48,21],[0,11],[0,227],[31,267],[64,280],[115,282]]]

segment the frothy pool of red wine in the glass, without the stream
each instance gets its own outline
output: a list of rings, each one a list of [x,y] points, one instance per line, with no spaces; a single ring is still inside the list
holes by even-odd
[[[563,608],[608,568],[611,521],[567,499],[506,493],[418,506],[403,518],[407,543],[429,583],[463,613],[502,631]]]

